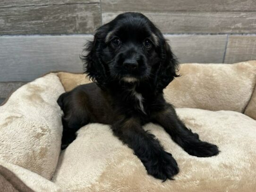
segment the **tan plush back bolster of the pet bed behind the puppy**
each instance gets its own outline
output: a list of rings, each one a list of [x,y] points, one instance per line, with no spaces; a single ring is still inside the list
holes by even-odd
[[[233,110],[243,113],[256,86],[256,61],[181,64],[179,74],[181,76],[164,90],[166,100],[176,108]],[[82,74],[60,72],[58,75],[66,91],[90,82]],[[247,109],[249,114],[256,110],[256,101],[251,102]],[[256,119],[255,116],[250,115]]]

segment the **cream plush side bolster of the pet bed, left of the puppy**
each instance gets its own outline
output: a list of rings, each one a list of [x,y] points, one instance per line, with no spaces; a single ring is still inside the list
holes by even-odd
[[[56,74],[19,88],[0,107],[0,159],[51,179],[60,154],[64,92]]]

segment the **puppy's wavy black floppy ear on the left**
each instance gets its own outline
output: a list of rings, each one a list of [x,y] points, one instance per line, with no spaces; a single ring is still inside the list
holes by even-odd
[[[104,33],[106,33],[106,25],[97,29],[94,40],[89,41],[85,45],[86,55],[80,55],[84,61],[84,71],[87,76],[101,88],[107,83],[107,66],[102,63],[100,54],[104,43]]]

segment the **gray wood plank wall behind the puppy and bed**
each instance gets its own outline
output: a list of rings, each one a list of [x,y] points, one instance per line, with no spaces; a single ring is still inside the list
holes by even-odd
[[[0,102],[49,71],[81,72],[86,40],[127,11],[149,17],[181,63],[256,59],[255,0],[1,0]]]

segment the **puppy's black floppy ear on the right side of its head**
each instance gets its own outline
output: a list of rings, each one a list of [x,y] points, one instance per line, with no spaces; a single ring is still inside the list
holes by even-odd
[[[176,72],[179,69],[178,61],[175,55],[171,52],[171,47],[166,40],[163,40],[161,45],[161,63],[157,70],[157,75],[155,79],[156,89],[159,92],[174,79],[178,77]]]

